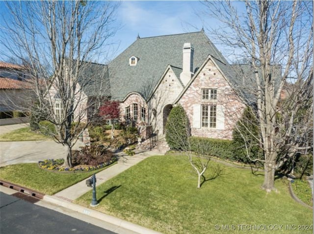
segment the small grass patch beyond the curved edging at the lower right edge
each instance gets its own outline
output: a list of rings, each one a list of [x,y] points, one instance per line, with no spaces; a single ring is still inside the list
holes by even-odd
[[[291,183],[294,194],[305,204],[313,206],[312,189],[309,182],[303,180],[294,180]]]

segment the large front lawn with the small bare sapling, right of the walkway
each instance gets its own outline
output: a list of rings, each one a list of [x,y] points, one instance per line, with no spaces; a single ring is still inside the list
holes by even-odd
[[[215,225],[235,225],[232,233],[261,233],[238,230],[236,225],[284,225],[283,231],[298,233],[285,225],[311,225],[312,209],[295,202],[288,182],[275,182],[278,192],[261,189],[262,175],[210,162],[221,174],[197,189],[197,176],[184,156],[152,156],[97,187],[100,205],[94,209],[165,234],[211,234]],[[88,207],[91,193],[76,200]],[[265,231],[262,231],[265,232]],[[312,231],[300,231],[311,233]]]

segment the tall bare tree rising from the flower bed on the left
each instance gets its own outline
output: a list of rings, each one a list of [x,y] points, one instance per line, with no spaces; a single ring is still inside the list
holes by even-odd
[[[24,64],[33,108],[55,127],[53,139],[72,147],[110,95],[105,65],[90,63],[105,53],[117,5],[108,1],[7,2],[1,26],[3,55]]]

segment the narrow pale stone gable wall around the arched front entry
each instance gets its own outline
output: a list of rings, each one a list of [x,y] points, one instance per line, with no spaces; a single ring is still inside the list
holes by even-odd
[[[174,74],[173,70],[169,67],[161,78],[154,95],[149,101],[150,107],[150,125],[153,126],[153,132],[159,134],[163,133],[165,121],[168,114],[167,107],[172,107],[172,104],[182,92],[183,86],[179,79]]]

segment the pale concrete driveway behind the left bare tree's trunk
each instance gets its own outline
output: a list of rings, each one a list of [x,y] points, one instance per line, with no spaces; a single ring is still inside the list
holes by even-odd
[[[74,149],[82,145],[83,143],[78,141]],[[38,162],[50,158],[62,158],[66,153],[66,147],[52,140],[0,142],[0,167],[17,163]]]

